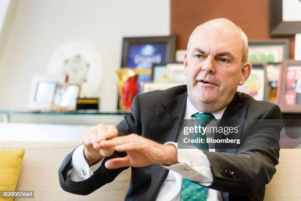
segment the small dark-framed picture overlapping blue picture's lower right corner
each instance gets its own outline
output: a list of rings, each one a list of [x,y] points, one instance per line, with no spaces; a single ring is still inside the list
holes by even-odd
[[[152,64],[151,81],[153,83],[167,83],[167,67],[166,63]]]

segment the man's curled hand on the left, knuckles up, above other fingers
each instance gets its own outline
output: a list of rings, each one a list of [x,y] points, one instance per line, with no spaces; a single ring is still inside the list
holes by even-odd
[[[114,153],[114,146],[102,147],[100,142],[112,139],[117,134],[118,130],[115,126],[98,124],[83,135],[84,156],[89,166],[98,163],[103,157],[111,156]]]

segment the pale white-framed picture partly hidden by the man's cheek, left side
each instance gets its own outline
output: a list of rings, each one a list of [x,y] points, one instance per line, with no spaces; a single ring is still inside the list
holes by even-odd
[[[186,75],[184,70],[184,64],[167,64],[167,78],[170,83],[182,83],[186,84]]]

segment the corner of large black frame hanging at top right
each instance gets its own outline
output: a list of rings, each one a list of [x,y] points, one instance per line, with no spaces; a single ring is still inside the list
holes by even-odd
[[[282,1],[283,0],[270,0],[270,34],[295,35],[296,33],[301,33],[301,21],[283,21]]]

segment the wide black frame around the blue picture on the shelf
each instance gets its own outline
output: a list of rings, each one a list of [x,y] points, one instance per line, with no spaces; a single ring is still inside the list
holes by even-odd
[[[128,67],[129,48],[131,45],[143,44],[166,44],[166,61],[159,63],[173,63],[176,57],[176,35],[148,36],[148,37],[123,37],[121,67]],[[151,68],[151,66],[150,66]]]

